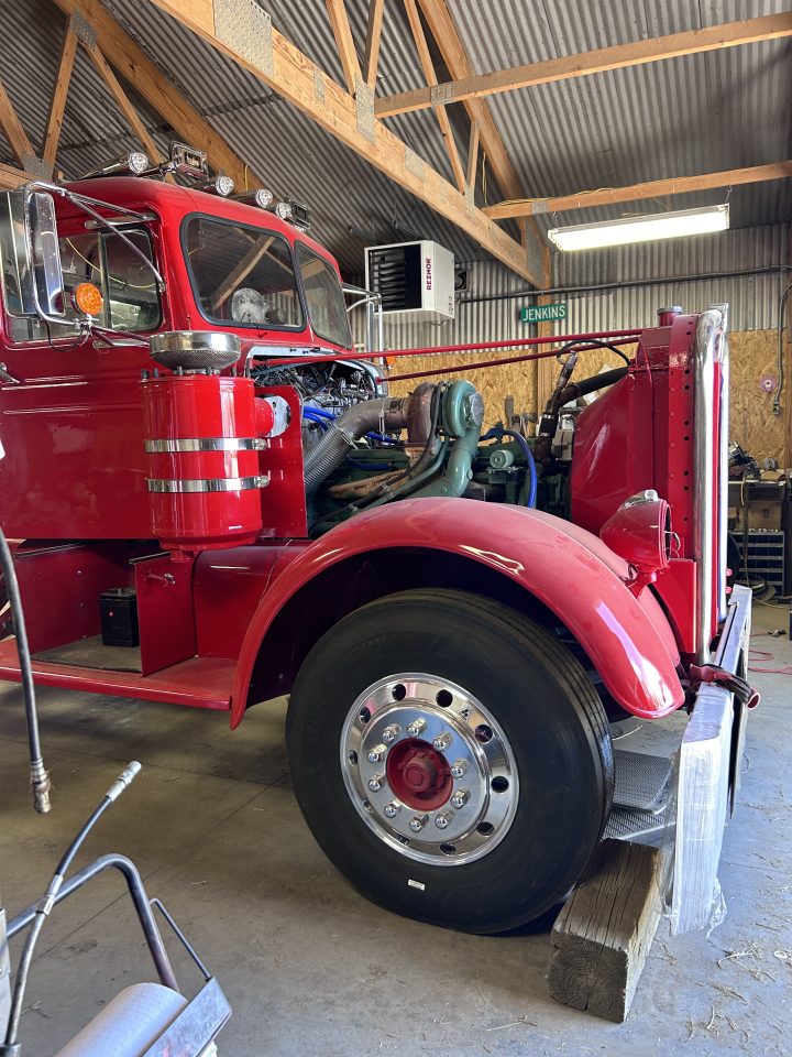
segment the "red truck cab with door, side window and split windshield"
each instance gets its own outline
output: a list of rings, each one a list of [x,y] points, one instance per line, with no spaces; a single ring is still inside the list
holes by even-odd
[[[245,360],[263,346],[349,350],[338,265],[305,232],[246,203],[134,177],[68,189],[97,200],[110,194],[124,211],[97,210],[111,230],[68,200],[58,210],[62,323],[19,314],[6,272],[3,360],[20,380],[3,392],[6,531],[146,538],[139,389],[152,368],[148,338],[234,334]],[[92,333],[80,334],[72,295],[86,285],[101,306]]]

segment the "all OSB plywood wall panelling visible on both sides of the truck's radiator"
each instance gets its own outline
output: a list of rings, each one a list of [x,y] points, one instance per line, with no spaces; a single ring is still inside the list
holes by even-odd
[[[777,358],[778,336],[776,330],[745,330],[732,334],[729,337],[730,369],[732,369],[732,428],[733,440],[737,440],[756,459],[774,458],[783,465],[784,447],[784,415],[774,417],[772,414],[771,394],[762,391],[760,380],[762,375],[776,377],[778,373]],[[785,352],[789,348],[784,344]],[[626,346],[629,351],[630,346]],[[506,396],[513,396],[515,411],[537,412],[537,363],[529,360],[522,363],[509,363],[486,370],[463,370],[464,364],[483,360],[499,359],[518,356],[519,349],[501,350],[496,353],[465,352],[454,356],[416,356],[396,359],[392,364],[394,374],[405,374],[413,371],[427,371],[438,367],[459,367],[459,373],[447,374],[447,379],[466,378],[479,389],[484,396],[485,417],[484,427],[488,428],[504,416]],[[789,359],[789,356],[788,356]],[[619,359],[609,350],[591,350],[581,352],[576,378],[587,378],[596,374],[601,368],[618,367]],[[553,364],[552,374],[556,377],[557,367]],[[440,377],[429,377],[427,381],[439,381]],[[392,383],[391,392],[394,396],[402,396],[411,392],[424,379],[396,381]],[[792,377],[788,379],[792,394]],[[785,401],[784,401],[785,403]]]

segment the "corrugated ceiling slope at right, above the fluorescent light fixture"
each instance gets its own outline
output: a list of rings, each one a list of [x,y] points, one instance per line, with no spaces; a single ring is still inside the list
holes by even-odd
[[[477,73],[790,10],[788,0],[449,0]],[[530,11],[528,10],[530,8]],[[527,195],[575,194],[788,159],[792,46],[767,41],[490,100]],[[537,217],[544,227],[723,201],[725,189]],[[790,181],[735,187],[733,227],[792,216]]]

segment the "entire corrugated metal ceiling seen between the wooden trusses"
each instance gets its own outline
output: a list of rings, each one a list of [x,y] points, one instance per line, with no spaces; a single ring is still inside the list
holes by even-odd
[[[789,10],[788,0],[448,0],[474,69],[552,58],[738,18]],[[231,61],[143,0],[106,6],[246,161],[278,194],[308,201],[315,233],[348,274],[362,270],[362,248],[376,241],[435,238],[458,259],[485,257],[455,226],[391,183],[365,161],[270,92]],[[323,0],[270,0],[274,24],[341,81]],[[367,0],[346,2],[363,51]],[[64,18],[51,0],[0,4],[0,70],[34,144],[46,123]],[[663,176],[752,165],[791,156],[792,78],[789,42],[767,42],[688,56],[493,97],[491,107],[526,193],[571,194]],[[446,76],[442,67],[439,76]],[[424,84],[399,0],[386,0],[380,94]],[[163,120],[136,100],[163,146]],[[450,108],[464,156],[462,107]],[[388,120],[429,164],[450,177],[431,111]],[[75,176],[135,145],[90,61],[78,54],[58,164]],[[0,139],[0,160],[13,162]],[[490,200],[497,197],[488,189]],[[725,192],[676,196],[686,208]],[[479,188],[480,200],[482,188]],[[788,220],[789,181],[736,187],[733,226]],[[638,203],[634,210],[652,208]],[[560,215],[560,222],[612,218],[618,207]],[[544,227],[552,217],[539,218]]]

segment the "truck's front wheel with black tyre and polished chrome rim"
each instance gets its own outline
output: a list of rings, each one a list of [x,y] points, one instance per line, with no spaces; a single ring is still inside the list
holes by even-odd
[[[580,878],[613,793],[602,702],[543,628],[462,591],[392,595],[306,658],[292,781],[328,857],[380,905],[497,933]]]

